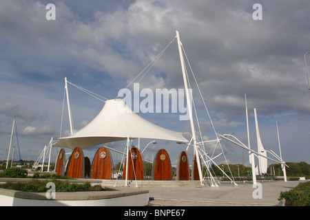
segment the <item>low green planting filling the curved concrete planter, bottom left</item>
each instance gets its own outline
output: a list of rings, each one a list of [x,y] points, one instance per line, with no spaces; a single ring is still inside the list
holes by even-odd
[[[45,181],[39,181],[32,179],[28,182],[20,183],[6,183],[1,184],[0,188],[6,188],[10,190],[19,190],[23,192],[47,192],[50,188],[46,188],[46,184],[53,182],[56,186],[56,192],[90,192],[90,191],[112,191],[113,188],[102,187],[101,185],[91,186],[90,183],[84,184],[70,184],[68,181],[59,181],[56,179],[49,179]]]

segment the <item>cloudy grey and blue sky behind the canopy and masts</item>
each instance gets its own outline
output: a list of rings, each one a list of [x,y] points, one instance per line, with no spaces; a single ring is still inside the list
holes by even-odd
[[[54,21],[46,19],[48,3],[56,6]],[[262,20],[253,19],[255,3],[262,5]],[[22,159],[37,159],[51,137],[68,134],[68,111],[61,127],[65,77],[116,98],[178,30],[216,131],[247,143],[247,94],[252,148],[257,147],[256,108],[265,148],[278,153],[278,121],[285,161],[310,163],[310,93],[304,66],[304,54],[310,51],[309,6],[307,0],[1,0],[0,159],[7,157],[14,115]],[[174,41],[140,88],[183,88],[180,71]],[[215,139],[194,82],[192,87],[198,113],[204,114],[203,136]],[[69,93],[74,129],[79,130],[104,103],[72,85]],[[140,115],[167,129],[189,131],[189,121],[179,121],[178,113]],[[149,141],[141,140],[141,146]],[[111,146],[123,151],[125,143]],[[246,151],[225,141],[222,146],[229,162],[242,164],[244,158],[247,164]],[[92,160],[97,148],[84,153]],[[186,146],[158,142],[145,158],[152,160],[161,148],[175,162]]]

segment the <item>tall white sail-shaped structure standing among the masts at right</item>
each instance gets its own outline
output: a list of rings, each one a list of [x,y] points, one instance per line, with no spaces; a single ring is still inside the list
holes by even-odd
[[[257,113],[256,109],[254,109],[254,115],[255,115],[255,124],[256,124],[256,137],[257,137],[257,148],[258,148],[258,169],[256,168],[256,174],[262,175],[264,173],[267,173],[268,168],[268,162],[267,162],[267,152],[265,151],[264,146],[262,146],[262,140],[260,139],[260,131],[258,129],[258,120],[257,120]],[[265,157],[262,157],[261,155],[264,155]]]

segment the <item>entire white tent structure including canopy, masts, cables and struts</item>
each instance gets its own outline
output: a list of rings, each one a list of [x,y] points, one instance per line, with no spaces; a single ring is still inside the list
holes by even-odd
[[[147,120],[144,120],[143,118],[138,116],[136,113],[134,113],[129,107],[127,107],[127,105],[122,99],[113,99],[113,100],[105,101],[105,106],[103,107],[101,112],[96,116],[96,118],[94,118],[92,122],[90,122],[85,127],[83,127],[83,129],[77,131],[76,133],[73,133],[72,116],[70,115],[70,104],[69,104],[69,98],[68,98],[68,86],[67,86],[67,80],[65,78],[65,89],[67,91],[71,135],[68,137],[60,137],[58,139],[58,142],[53,144],[53,146],[62,146],[62,147],[68,147],[72,149],[75,148],[76,146],[79,146],[80,148],[83,149],[83,148],[89,148],[91,146],[96,146],[99,144],[105,144],[107,142],[127,140],[127,144],[126,144],[127,158],[129,158],[130,139],[145,138],[145,139],[153,139],[153,140],[158,139],[158,140],[172,140],[176,142],[185,142],[184,144],[187,144],[187,148],[189,146],[193,146],[194,155],[197,156],[196,158],[197,158],[197,165],[198,165],[198,173],[199,173],[199,179],[200,179],[201,185],[204,184],[204,179],[205,179],[205,177],[203,176],[203,170],[201,168],[201,165],[204,164],[208,169],[208,175],[211,177],[210,185],[218,186],[216,184],[214,177],[212,176],[209,170],[210,162],[213,162],[214,165],[217,166],[217,168],[223,171],[223,175],[226,175],[231,180],[231,182],[233,182],[235,185],[238,185],[236,184],[234,179],[231,179],[224,172],[224,170],[222,170],[214,162],[214,159],[216,157],[222,154],[224,155],[223,148],[220,145],[220,139],[218,138],[218,136],[216,136],[216,140],[203,141],[203,135],[200,130],[196,109],[195,107],[192,109],[192,104],[193,106],[195,105],[191,97],[192,94],[190,93],[191,87],[190,87],[188,76],[187,76],[185,58],[186,58],[186,61],[189,67],[190,67],[190,64],[185,54],[183,45],[180,41],[180,36],[179,36],[178,31],[176,31],[176,37],[174,39],[177,39],[178,41],[178,52],[180,55],[180,64],[181,64],[181,70],[183,74],[183,81],[184,81],[184,87],[185,87],[185,94],[186,94],[186,99],[187,99],[187,110],[188,110],[188,115],[189,115],[189,122],[191,125],[191,131],[192,131],[192,140],[190,141],[192,142],[192,144],[188,140],[186,140],[185,137],[183,137],[182,133],[165,129],[161,126],[157,126],[156,124],[153,124],[151,122],[148,122]],[[167,47],[172,43],[172,41],[167,45]],[[163,54],[163,52],[167,49],[167,47],[165,47],[165,49],[160,54],[158,54],[158,56],[156,56],[156,59],[154,61],[156,61],[159,58],[159,56]],[[183,53],[185,56],[183,56]],[[154,63],[154,61],[152,61],[151,63]],[[149,66],[152,67],[152,65],[148,65],[145,69],[149,68]],[[143,72],[145,69],[143,69]],[[192,72],[192,67],[190,67],[190,69]],[[148,72],[148,70],[149,69],[147,69],[146,72]],[[141,72],[138,76],[141,76],[143,72]],[[145,74],[143,76],[145,76]],[[194,76],[194,72],[192,72],[192,75]],[[198,87],[198,91],[199,91],[200,97],[202,98],[207,115],[209,115],[209,111],[207,110],[207,106],[205,104],[205,101],[203,100],[203,96],[199,89],[195,76],[194,76],[194,80],[195,80],[196,86]],[[133,82],[134,80],[132,81],[132,83]],[[199,129],[199,132],[197,133],[195,131],[193,115],[196,116],[196,123]],[[210,115],[209,115],[209,120],[211,121]],[[214,129],[215,135],[217,135],[212,121],[211,121],[211,125],[212,125],[212,128]],[[199,137],[199,134],[200,134],[200,137]],[[219,155],[215,157],[212,154],[210,157],[205,151],[205,144],[207,142],[216,142],[216,146],[219,146],[221,148],[222,153],[220,153]],[[225,160],[227,161],[226,157],[225,157]],[[127,172],[126,172],[126,177],[125,177],[125,186],[127,186]]]

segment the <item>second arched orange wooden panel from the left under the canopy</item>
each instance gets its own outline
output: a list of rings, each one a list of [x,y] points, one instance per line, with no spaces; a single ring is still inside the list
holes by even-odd
[[[67,176],[72,178],[84,178],[84,171],[84,154],[81,148],[76,147],[70,157]]]

